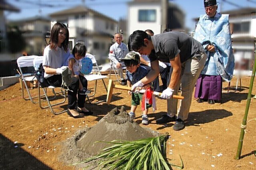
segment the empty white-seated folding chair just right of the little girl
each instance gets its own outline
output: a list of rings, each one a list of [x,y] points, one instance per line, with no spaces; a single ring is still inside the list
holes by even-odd
[[[90,95],[90,96],[86,95],[86,97],[87,97],[87,99],[88,99],[88,101],[89,101],[90,104],[99,104],[99,103],[102,103],[102,102],[106,102],[106,100],[101,100],[101,101],[92,103],[92,102],[90,102],[90,100],[89,100],[89,97],[93,97],[93,96],[95,96],[95,94],[96,94],[97,81],[98,81],[98,80],[102,80],[102,82],[103,82],[103,84],[104,84],[104,87],[105,87],[105,89],[106,89],[106,92],[108,92],[108,89],[107,89],[107,87],[106,87],[106,84],[105,84],[105,82],[104,82],[104,80],[103,80],[104,78],[108,78],[108,77],[101,75],[100,69],[99,69],[99,67],[98,67],[98,64],[97,64],[97,61],[96,61],[94,55],[91,55],[91,54],[88,54],[88,53],[87,53],[87,54],[86,54],[86,57],[90,58],[90,59],[92,60],[92,64],[95,64],[95,65],[96,65],[96,69],[95,69],[95,70],[92,70],[92,74],[84,75],[84,77],[86,78],[87,81],[95,81],[94,94],[92,94],[92,95]]]

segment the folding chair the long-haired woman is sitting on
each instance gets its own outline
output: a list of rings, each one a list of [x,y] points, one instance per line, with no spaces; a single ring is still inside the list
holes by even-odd
[[[43,56],[38,56],[34,59],[33,61],[33,64],[34,64],[34,67],[35,68],[38,68],[38,66],[43,62]],[[49,98],[49,96],[47,95],[47,88],[49,89],[52,89],[52,94],[54,94],[54,96],[52,98]],[[42,109],[46,109],[46,108],[50,108],[51,112],[54,114],[54,115],[58,115],[60,113],[64,113],[66,112],[67,110],[63,110],[63,111],[60,111],[60,112],[55,112],[52,108],[52,106],[56,106],[56,105],[59,105],[59,104],[63,104],[64,102],[66,102],[66,89],[64,89],[64,91],[62,90],[62,88],[60,88],[61,92],[58,92],[56,93],[55,92],[55,88],[57,87],[54,87],[54,86],[48,86],[48,87],[45,87],[45,88],[42,88],[43,92],[44,92],[44,95],[42,96],[45,96],[46,100],[42,100],[41,97],[39,98],[39,106],[40,108]],[[41,86],[40,86],[40,82],[38,81],[38,96],[41,96],[40,95],[40,89],[41,89]],[[60,94],[61,96],[64,96],[64,99],[62,102],[58,102],[56,104],[51,104],[51,100],[55,99],[56,98],[56,94]],[[42,106],[42,102],[44,101],[47,101],[48,103],[48,106]]]

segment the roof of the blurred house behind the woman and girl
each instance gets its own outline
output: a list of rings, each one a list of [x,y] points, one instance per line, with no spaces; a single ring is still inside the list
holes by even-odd
[[[50,16],[51,17],[56,17],[56,16],[64,16],[64,15],[70,15],[70,14],[81,14],[83,12],[92,12],[94,14],[94,16],[104,17],[108,20],[117,22],[113,18],[105,16],[104,14],[101,14],[97,11],[94,11],[90,8],[87,8],[86,6],[75,6],[73,8],[69,8],[69,9],[66,9],[66,10],[59,11],[59,12],[54,12],[54,13],[50,14]]]

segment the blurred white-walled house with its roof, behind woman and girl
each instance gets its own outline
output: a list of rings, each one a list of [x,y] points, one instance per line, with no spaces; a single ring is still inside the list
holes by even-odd
[[[52,21],[66,23],[69,30],[69,48],[76,43],[86,45],[87,51],[104,62],[116,33],[118,22],[86,6],[76,6],[50,14]]]

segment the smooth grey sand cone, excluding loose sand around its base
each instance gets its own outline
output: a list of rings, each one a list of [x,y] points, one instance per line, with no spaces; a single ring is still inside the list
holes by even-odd
[[[110,145],[102,142],[95,143],[96,141],[135,141],[154,136],[149,130],[132,121],[124,107],[121,107],[120,111],[117,108],[110,111],[85,133],[77,141],[77,147],[90,155],[96,155],[104,147]]]

